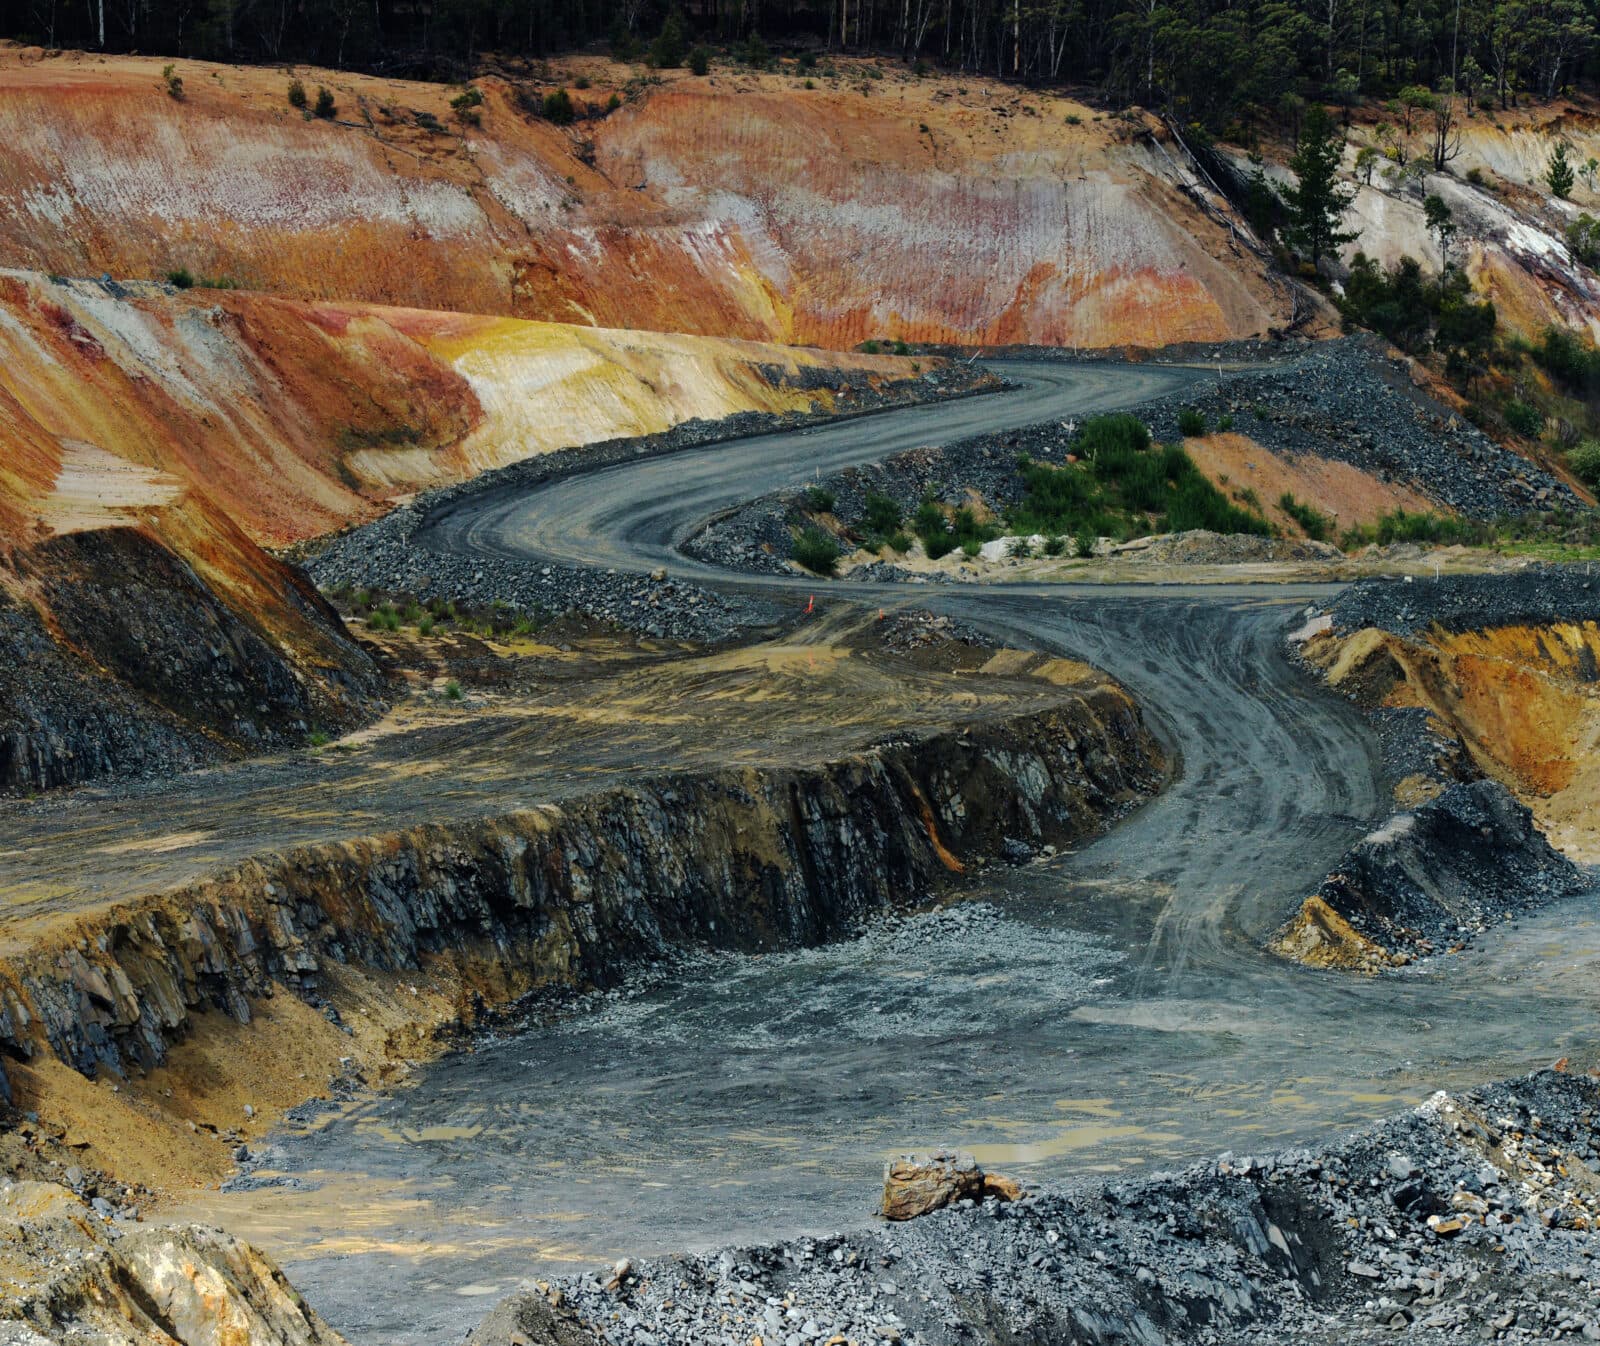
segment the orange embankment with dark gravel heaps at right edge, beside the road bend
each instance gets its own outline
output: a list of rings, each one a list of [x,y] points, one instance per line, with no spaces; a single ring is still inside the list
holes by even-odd
[[[1374,968],[1594,882],[1600,589],[1582,567],[1347,591],[1304,659],[1365,706],[1395,813],[1280,933]],[[1574,864],[1576,863],[1576,864]]]

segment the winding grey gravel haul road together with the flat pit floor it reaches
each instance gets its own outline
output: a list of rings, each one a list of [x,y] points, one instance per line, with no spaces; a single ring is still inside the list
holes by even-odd
[[[1205,376],[1000,368],[1024,391],[486,491],[422,541],[742,587],[675,551],[717,509]],[[459,1340],[520,1280],[622,1255],[861,1224],[907,1148],[958,1144],[1032,1180],[1170,1167],[1600,1052],[1594,893],[1397,976],[1261,952],[1387,811],[1365,720],[1285,655],[1328,591],[821,587],[1098,664],[1139,698],[1173,783],[1077,853],[992,869],[938,911],[805,952],[690,959],[280,1130],[250,1189],[194,1213],[278,1253],[352,1341]]]

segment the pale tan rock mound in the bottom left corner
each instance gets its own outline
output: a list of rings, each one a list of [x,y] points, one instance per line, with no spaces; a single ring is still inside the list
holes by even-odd
[[[0,1343],[344,1346],[264,1253],[200,1226],[101,1218],[66,1188],[0,1188]]]

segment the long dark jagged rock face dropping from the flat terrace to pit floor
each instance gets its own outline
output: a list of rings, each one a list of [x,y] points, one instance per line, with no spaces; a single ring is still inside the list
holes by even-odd
[[[38,938],[0,965],[0,1047],[150,1066],[192,1015],[248,1020],[275,984],[318,994],[326,963],[440,959],[491,1002],[611,984],[680,944],[810,944],[963,863],[1094,832],[1160,779],[1138,709],[1102,685],[819,767],[310,845]]]

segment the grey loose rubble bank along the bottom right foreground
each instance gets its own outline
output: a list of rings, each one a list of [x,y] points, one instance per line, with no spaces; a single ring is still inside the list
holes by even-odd
[[[560,1340],[613,1346],[1600,1341],[1597,1229],[1600,1084],[1542,1071],[1320,1152],[619,1264],[530,1298],[562,1303]]]

